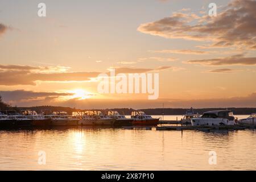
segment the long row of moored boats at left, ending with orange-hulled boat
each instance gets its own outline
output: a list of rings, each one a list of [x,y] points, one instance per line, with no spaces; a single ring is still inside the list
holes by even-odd
[[[68,115],[63,111],[43,110],[40,114],[36,111],[15,110],[0,111],[0,127],[22,126],[83,126],[83,125],[108,125],[108,126],[131,126],[131,125],[157,125],[159,118],[152,118],[143,111],[133,111],[131,118],[119,114],[117,111],[84,111],[73,112]]]

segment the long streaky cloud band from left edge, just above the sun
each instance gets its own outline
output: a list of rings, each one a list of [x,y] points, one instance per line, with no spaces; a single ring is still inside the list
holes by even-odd
[[[160,68],[115,68],[117,73],[146,73]],[[101,72],[67,72],[69,67],[30,67],[24,65],[0,65],[0,85],[36,85],[36,81],[69,82],[90,81]],[[106,73],[108,73],[106,71]]]

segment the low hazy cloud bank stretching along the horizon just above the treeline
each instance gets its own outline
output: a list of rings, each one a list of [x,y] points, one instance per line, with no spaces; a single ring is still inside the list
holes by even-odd
[[[25,91],[26,92],[26,91]],[[29,91],[30,92],[30,91]],[[0,92],[1,94],[2,92]],[[20,93],[23,94],[23,93]],[[27,93],[28,94],[28,93]],[[209,99],[192,99],[192,100],[180,100],[171,98],[159,98],[158,100],[129,100],[129,99],[86,99],[86,100],[59,100],[57,98],[61,96],[55,96],[56,93],[40,93],[39,96],[30,96],[29,100],[23,100],[21,97],[14,101],[9,94],[9,97],[3,97],[5,102],[18,106],[39,106],[39,105],[54,105],[54,106],[68,106],[76,107],[77,109],[107,109],[107,108],[133,108],[133,109],[145,109],[162,107],[163,103],[165,107],[172,108],[214,108],[214,107],[256,107],[256,93],[252,93],[245,97],[230,97],[230,98],[209,98]],[[49,96],[46,96],[49,94]],[[6,96],[6,95],[5,95]],[[12,96],[16,96],[12,94]],[[43,96],[43,97],[41,97]],[[44,97],[46,96],[46,97]],[[8,100],[8,98],[10,100]]]

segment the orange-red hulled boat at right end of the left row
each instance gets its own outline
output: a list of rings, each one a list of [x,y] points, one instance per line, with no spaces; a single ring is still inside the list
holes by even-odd
[[[147,115],[143,111],[131,112],[131,118],[134,119],[133,125],[158,125],[159,121],[159,118],[152,118],[151,115]]]

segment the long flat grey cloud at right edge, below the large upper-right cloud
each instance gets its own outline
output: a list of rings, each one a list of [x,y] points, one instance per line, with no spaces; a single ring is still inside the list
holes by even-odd
[[[244,57],[244,55],[234,55],[215,59],[189,60],[189,64],[201,65],[255,65],[256,57]]]

